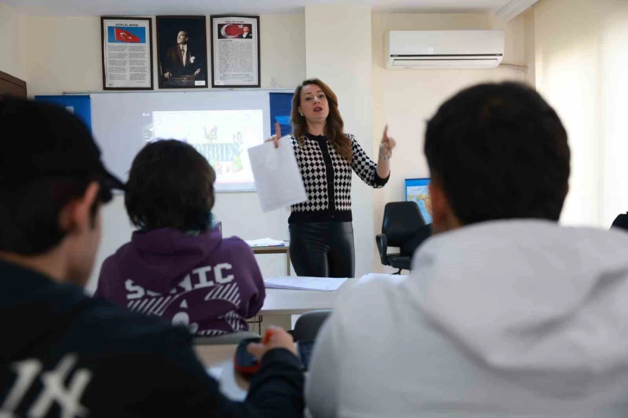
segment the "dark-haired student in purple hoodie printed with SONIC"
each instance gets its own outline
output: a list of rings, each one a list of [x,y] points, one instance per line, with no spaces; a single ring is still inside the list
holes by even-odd
[[[139,228],[105,260],[96,296],[188,326],[198,336],[248,330],[266,292],[249,246],[211,228],[214,169],[192,146],[156,141],[136,156],[124,203]]]

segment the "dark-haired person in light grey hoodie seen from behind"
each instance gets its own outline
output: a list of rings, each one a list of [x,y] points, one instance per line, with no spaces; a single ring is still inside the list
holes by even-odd
[[[531,88],[478,85],[428,122],[431,237],[320,331],[314,417],[625,418],[628,234],[557,223],[570,151]]]

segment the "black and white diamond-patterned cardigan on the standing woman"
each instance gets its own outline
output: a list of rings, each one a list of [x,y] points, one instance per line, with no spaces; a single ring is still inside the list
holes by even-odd
[[[374,188],[386,185],[388,178],[377,175],[377,164],[351,139],[351,162],[342,158],[325,136],[308,134],[303,145],[291,136],[296,162],[308,200],[292,205],[288,223],[351,222],[351,171]]]

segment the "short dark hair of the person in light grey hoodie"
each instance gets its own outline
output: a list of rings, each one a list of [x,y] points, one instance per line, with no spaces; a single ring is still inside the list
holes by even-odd
[[[470,87],[428,122],[425,156],[463,225],[487,220],[558,220],[570,150],[555,110],[520,83]]]

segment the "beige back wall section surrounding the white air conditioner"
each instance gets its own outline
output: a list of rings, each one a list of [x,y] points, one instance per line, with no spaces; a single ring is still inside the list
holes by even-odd
[[[384,124],[397,141],[391,161],[391,178],[374,197],[374,233],[381,232],[384,205],[404,200],[404,179],[428,177],[423,156],[425,121],[438,105],[460,88],[495,80],[526,80],[524,69],[494,70],[386,70],[384,33],[389,30],[503,29],[506,33],[504,63],[526,64],[524,18],[502,24],[490,14],[373,14],[374,141],[377,153]],[[376,259],[376,271],[392,271]]]

